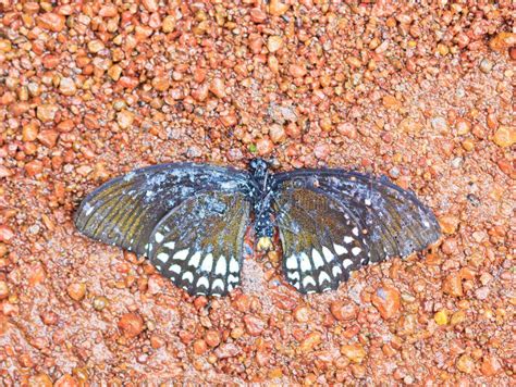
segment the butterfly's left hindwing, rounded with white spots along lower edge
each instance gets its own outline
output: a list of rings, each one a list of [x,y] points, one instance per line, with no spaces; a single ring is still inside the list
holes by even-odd
[[[248,198],[239,192],[189,198],[155,227],[147,255],[191,295],[226,295],[241,283],[249,209]]]

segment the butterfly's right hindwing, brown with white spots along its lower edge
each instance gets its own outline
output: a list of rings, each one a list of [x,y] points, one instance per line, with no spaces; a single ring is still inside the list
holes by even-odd
[[[358,221],[318,189],[283,190],[277,197],[275,211],[283,272],[300,292],[336,289],[368,259]]]

